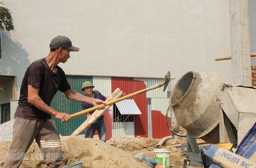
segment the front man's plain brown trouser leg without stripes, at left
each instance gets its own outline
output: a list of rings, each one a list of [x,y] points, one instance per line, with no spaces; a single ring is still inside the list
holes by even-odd
[[[12,143],[8,151],[8,158],[2,168],[18,168],[20,166],[24,155],[36,137],[37,128],[37,120],[15,117]]]

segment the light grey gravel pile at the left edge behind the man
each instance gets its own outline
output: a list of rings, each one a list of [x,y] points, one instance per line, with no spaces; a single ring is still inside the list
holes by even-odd
[[[12,141],[13,123],[14,119],[0,125],[0,142]]]

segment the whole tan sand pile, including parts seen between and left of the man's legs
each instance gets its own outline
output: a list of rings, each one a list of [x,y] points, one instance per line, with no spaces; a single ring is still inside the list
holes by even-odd
[[[0,142],[0,167],[7,158],[11,142]],[[82,161],[82,168],[148,168],[134,155],[121,149],[115,148],[99,139],[80,138],[69,136],[62,138],[64,152],[64,165],[76,161]],[[27,151],[27,157],[23,160],[20,168],[47,168],[41,156],[37,143],[33,143]],[[63,166],[64,166],[63,165]]]

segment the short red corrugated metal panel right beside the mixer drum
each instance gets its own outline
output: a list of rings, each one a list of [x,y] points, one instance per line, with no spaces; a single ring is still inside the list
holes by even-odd
[[[165,121],[165,116],[161,111],[152,110],[152,136],[155,139],[161,139],[165,136],[170,136],[171,131],[168,129]],[[171,124],[171,118],[168,117],[169,126]]]

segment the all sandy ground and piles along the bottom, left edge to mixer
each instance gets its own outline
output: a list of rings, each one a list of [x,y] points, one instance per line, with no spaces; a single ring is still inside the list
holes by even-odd
[[[146,164],[138,160],[134,154],[141,151],[147,158],[154,159],[154,148],[161,139],[143,137],[116,137],[104,143],[96,138],[83,138],[82,136],[62,137],[62,149],[64,152],[64,165],[76,161],[82,161],[82,168],[148,168]],[[0,142],[0,167],[7,159],[9,141]],[[183,139],[166,140],[161,148],[171,149],[170,167],[182,168],[183,156],[180,147],[171,147],[175,144],[186,143]],[[20,168],[47,168],[42,160],[37,143],[33,143],[23,160]]]

